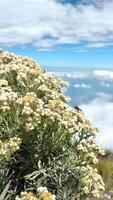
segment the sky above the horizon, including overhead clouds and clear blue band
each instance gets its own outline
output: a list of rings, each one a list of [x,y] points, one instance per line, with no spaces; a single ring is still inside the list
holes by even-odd
[[[112,0],[1,0],[0,47],[42,66],[113,69]]]

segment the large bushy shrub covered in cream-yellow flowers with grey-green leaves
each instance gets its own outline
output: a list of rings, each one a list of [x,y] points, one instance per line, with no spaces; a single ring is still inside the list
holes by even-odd
[[[98,130],[68,105],[65,86],[30,58],[0,55],[0,191],[11,180],[11,200],[41,186],[58,200],[98,197],[104,189],[95,168],[103,153]]]

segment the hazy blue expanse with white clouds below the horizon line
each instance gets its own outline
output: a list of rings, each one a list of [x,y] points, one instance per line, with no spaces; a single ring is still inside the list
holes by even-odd
[[[65,92],[101,130],[97,142],[113,150],[113,71],[54,72],[70,82]],[[74,89],[75,88],[75,89]]]

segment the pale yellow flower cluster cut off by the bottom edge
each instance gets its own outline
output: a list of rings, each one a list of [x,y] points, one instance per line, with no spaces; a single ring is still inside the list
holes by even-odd
[[[32,192],[21,192],[20,197],[17,196],[15,200],[55,200],[55,195],[48,192],[46,187],[39,187],[37,189],[37,194]]]

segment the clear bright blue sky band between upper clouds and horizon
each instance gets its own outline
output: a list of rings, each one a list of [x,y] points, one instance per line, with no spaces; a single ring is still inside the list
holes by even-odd
[[[65,47],[65,45],[64,45]],[[63,47],[62,47],[63,48]],[[92,69],[113,69],[113,50],[111,48],[91,49],[74,52],[67,48],[38,51],[34,47],[5,47],[4,49],[16,54],[26,55],[37,60],[42,67],[76,67]]]

